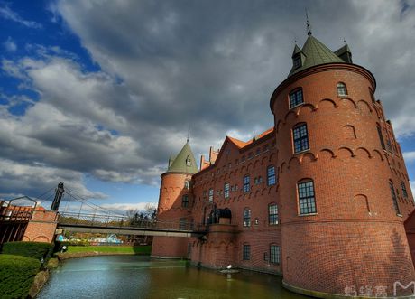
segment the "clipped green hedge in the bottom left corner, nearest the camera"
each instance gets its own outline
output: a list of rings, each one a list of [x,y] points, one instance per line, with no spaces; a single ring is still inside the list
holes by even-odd
[[[32,257],[0,255],[0,298],[26,298],[41,262]]]

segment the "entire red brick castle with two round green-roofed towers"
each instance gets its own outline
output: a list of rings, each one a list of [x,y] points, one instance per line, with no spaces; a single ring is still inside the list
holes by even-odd
[[[403,222],[414,201],[375,89],[347,45],[330,51],[309,32],[272,93],[271,129],[247,142],[226,136],[200,171],[189,143],[169,160],[158,218],[205,224],[208,234],[154,238],[152,256],[278,273],[285,287],[318,297],[350,286],[392,296],[395,282],[410,284]]]

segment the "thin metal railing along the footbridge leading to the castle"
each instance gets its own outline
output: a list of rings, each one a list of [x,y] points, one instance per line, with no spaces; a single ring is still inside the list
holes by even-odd
[[[193,222],[183,220],[141,220],[128,218],[126,216],[97,215],[72,212],[60,213],[58,222],[65,225],[119,229],[136,228],[176,231],[203,231],[206,229],[204,226],[195,225]]]

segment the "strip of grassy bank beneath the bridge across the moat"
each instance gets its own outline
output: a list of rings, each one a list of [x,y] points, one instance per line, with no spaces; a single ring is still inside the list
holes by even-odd
[[[151,246],[69,246],[66,253],[120,253],[130,255],[150,255]],[[66,254],[65,253],[65,254]]]

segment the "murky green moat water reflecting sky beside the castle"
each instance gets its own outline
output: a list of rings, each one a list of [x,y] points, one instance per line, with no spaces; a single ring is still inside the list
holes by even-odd
[[[281,277],[242,271],[224,275],[176,260],[141,256],[69,259],[52,271],[38,298],[284,298],[304,299]]]

